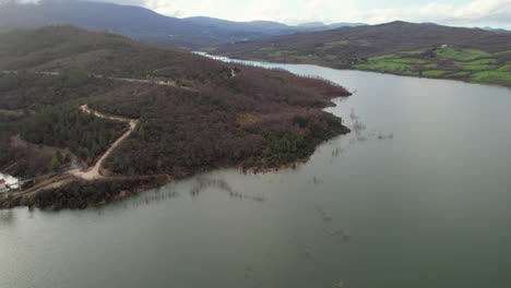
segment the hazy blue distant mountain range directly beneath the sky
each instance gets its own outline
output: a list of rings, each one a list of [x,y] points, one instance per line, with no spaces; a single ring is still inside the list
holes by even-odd
[[[307,27],[270,21],[233,22],[203,16],[177,19],[140,7],[87,1],[41,0],[37,4],[4,3],[0,7],[0,29],[62,24],[183,48],[249,41],[343,25]]]

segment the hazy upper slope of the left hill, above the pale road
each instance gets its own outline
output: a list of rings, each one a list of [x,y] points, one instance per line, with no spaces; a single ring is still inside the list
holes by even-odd
[[[0,40],[2,70],[76,70],[120,77],[146,77],[166,71],[187,77],[223,67],[192,53],[73,26],[16,29],[0,34]],[[163,68],[166,70],[159,70]]]

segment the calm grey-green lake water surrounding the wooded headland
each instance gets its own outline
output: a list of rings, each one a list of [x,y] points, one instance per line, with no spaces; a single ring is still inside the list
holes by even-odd
[[[328,109],[354,133],[295,170],[0,212],[0,287],[511,287],[510,89],[262,65],[356,91]]]

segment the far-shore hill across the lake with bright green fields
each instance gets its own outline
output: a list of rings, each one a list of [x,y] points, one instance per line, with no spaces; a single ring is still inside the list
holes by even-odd
[[[448,49],[441,50],[444,48]],[[314,63],[509,86],[510,51],[511,33],[392,22],[222,45],[213,52],[241,59]],[[381,61],[383,59],[378,57],[393,60]]]

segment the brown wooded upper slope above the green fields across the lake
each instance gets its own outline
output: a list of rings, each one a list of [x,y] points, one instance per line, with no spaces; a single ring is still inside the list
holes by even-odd
[[[217,53],[258,57],[262,56],[262,51],[271,52],[270,48],[274,48],[294,50],[296,55],[332,55],[338,59],[353,60],[444,44],[497,52],[510,48],[511,34],[429,23],[392,22],[223,45],[218,47]]]

